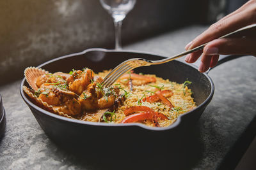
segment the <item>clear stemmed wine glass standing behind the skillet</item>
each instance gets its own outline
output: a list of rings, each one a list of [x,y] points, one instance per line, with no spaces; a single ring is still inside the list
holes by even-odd
[[[136,0],[100,0],[103,8],[112,16],[115,25],[115,49],[121,49],[122,21],[132,10]]]

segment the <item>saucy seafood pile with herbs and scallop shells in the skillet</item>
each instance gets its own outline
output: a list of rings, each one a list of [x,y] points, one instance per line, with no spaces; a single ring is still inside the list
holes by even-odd
[[[109,108],[119,94],[117,87],[102,89],[102,78],[94,76],[91,69],[52,74],[28,67],[24,74],[32,88],[23,87],[24,92],[39,106],[65,117],[77,118],[84,112]]]

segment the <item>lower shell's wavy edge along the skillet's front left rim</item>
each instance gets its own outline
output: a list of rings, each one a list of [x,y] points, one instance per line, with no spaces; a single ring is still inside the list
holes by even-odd
[[[40,108],[44,108],[47,111],[50,111],[52,113],[56,113],[56,114],[61,115],[63,117],[73,118],[73,117],[70,117],[69,115],[63,113],[63,111],[61,111],[60,108],[55,107],[55,106],[51,106],[51,105],[47,104],[46,102],[42,101],[41,99],[38,99],[38,97],[36,97],[28,87],[23,86],[22,89],[29,96],[29,98],[32,99],[34,103],[36,103],[37,106],[40,106]]]

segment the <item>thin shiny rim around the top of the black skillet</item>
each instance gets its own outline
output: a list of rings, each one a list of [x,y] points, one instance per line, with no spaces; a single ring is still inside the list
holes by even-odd
[[[126,53],[140,53],[140,54],[146,54],[146,55],[157,55],[159,57],[165,57],[164,55],[158,55],[156,53],[148,53],[148,52],[140,52],[140,51],[136,51],[136,50],[106,50],[103,48],[90,48],[87,50],[84,50],[83,52],[79,52],[79,53],[71,53],[69,55],[64,55],[62,57],[58,57],[56,59],[52,59],[49,60],[47,62],[44,62],[43,64],[40,64],[37,67],[42,67],[45,66],[46,64],[49,64],[51,62],[54,62],[56,60],[61,60],[61,59],[65,59],[68,57],[73,57],[76,55],[83,55],[84,53],[87,52],[92,52],[92,51],[102,51],[102,52],[126,52]],[[177,60],[178,61],[178,60]],[[179,61],[180,62],[180,61]],[[182,62],[183,64],[188,65],[189,67],[193,67],[194,69],[197,69],[196,66],[192,65],[192,64],[187,64],[186,62]],[[191,111],[188,111],[186,113],[183,113],[182,115],[179,115],[179,117],[177,118],[177,120],[170,126],[168,127],[148,127],[147,125],[144,124],[139,124],[139,123],[129,123],[129,124],[106,124],[106,123],[102,123],[102,122],[87,122],[87,121],[83,121],[83,120],[76,120],[76,119],[72,119],[72,118],[66,118],[66,117],[62,117],[60,115],[56,115],[54,113],[51,113],[49,111],[46,111],[42,108],[40,108],[39,106],[36,106],[36,104],[33,104],[31,101],[29,101],[28,97],[26,97],[26,95],[24,94],[24,91],[22,90],[22,86],[24,85],[26,78],[23,78],[23,80],[20,83],[20,95],[22,96],[22,99],[24,99],[24,101],[29,104],[29,106],[31,106],[32,108],[34,108],[35,110],[40,111],[41,113],[44,113],[50,117],[54,117],[54,118],[58,118],[60,120],[64,120],[67,122],[72,122],[72,123],[77,123],[77,124],[84,124],[84,125],[92,125],[92,126],[103,126],[103,127],[126,127],[126,126],[138,126],[141,127],[143,129],[147,129],[150,131],[166,131],[169,129],[174,129],[175,127],[177,127],[180,122],[182,122],[182,117],[185,117],[186,115],[192,113],[193,111],[199,110],[202,106],[204,106],[205,104],[208,103],[208,101],[211,99],[211,97],[214,94],[214,83],[211,80],[211,78],[208,76],[208,74],[206,73],[202,73],[204,74],[204,76],[206,76],[206,78],[209,80],[209,82],[211,83],[211,92],[209,94],[209,96],[207,97],[207,99],[205,99],[205,101],[203,103],[201,103],[200,105],[196,106],[196,108],[194,108]]]

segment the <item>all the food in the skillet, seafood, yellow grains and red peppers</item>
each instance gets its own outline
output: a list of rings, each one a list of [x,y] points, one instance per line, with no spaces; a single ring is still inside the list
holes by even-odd
[[[180,114],[196,107],[188,80],[179,84],[153,74],[131,71],[114,85],[102,87],[102,78],[108,73],[95,74],[89,68],[49,73],[28,67],[25,76],[31,88],[24,86],[23,90],[45,110],[90,122],[138,122],[167,127]]]

